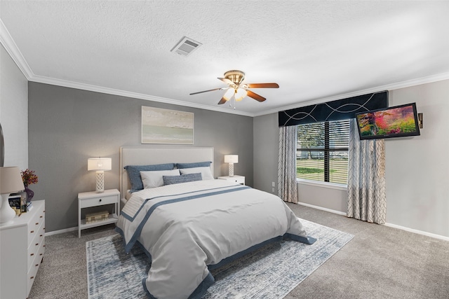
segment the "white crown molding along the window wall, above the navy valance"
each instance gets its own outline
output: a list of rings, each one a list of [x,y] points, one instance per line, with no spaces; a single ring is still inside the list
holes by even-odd
[[[378,86],[376,88],[368,88],[366,90],[358,90],[356,92],[348,92],[348,93],[344,93],[341,95],[333,95],[331,97],[325,97],[325,98],[321,98],[321,99],[312,99],[310,101],[301,102],[300,104],[293,104],[290,106],[283,106],[280,108],[271,109],[271,110],[263,111],[260,113],[253,113],[253,117],[264,116],[267,114],[278,113],[279,111],[284,111],[284,110],[295,109],[295,108],[300,108],[300,107],[314,105],[314,104],[321,104],[321,103],[325,103],[325,102],[335,101],[336,99],[346,99],[347,97],[357,97],[359,95],[366,95],[368,93],[373,93],[373,92],[382,92],[384,90],[397,90],[400,88],[409,88],[409,87],[415,86],[415,85],[434,83],[434,82],[448,80],[448,79],[449,79],[449,73],[441,73],[441,74],[431,75],[431,76],[427,76],[427,77],[382,85],[382,86]]]

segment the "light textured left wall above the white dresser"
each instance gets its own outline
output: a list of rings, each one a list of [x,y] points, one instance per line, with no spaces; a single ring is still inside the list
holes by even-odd
[[[0,45],[0,123],[5,141],[4,166],[28,167],[28,81]]]

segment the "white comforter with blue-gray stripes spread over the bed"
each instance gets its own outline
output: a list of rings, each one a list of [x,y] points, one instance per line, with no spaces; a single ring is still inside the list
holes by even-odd
[[[225,180],[133,193],[117,231],[127,252],[140,242],[151,256],[143,284],[157,299],[201,298],[214,282],[208,265],[269,239],[314,242],[279,197]]]

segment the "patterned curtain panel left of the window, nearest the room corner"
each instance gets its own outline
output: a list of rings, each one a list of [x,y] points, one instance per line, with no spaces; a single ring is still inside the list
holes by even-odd
[[[297,202],[296,187],[297,127],[279,127],[278,195],[286,202]]]

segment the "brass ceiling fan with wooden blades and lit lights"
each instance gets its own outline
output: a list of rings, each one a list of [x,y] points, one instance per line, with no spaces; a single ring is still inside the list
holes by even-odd
[[[190,95],[198,95],[203,92],[210,92],[214,90],[226,90],[225,95],[223,95],[222,99],[218,104],[225,104],[229,99],[234,99],[239,102],[243,99],[243,97],[252,97],[258,102],[264,102],[265,98],[261,95],[257,95],[257,93],[252,92],[249,88],[279,88],[277,83],[243,83],[243,79],[245,79],[245,73],[243,71],[227,71],[224,74],[225,78],[217,78],[229,85],[226,88],[214,88],[212,90],[203,90],[199,92],[193,92]]]

